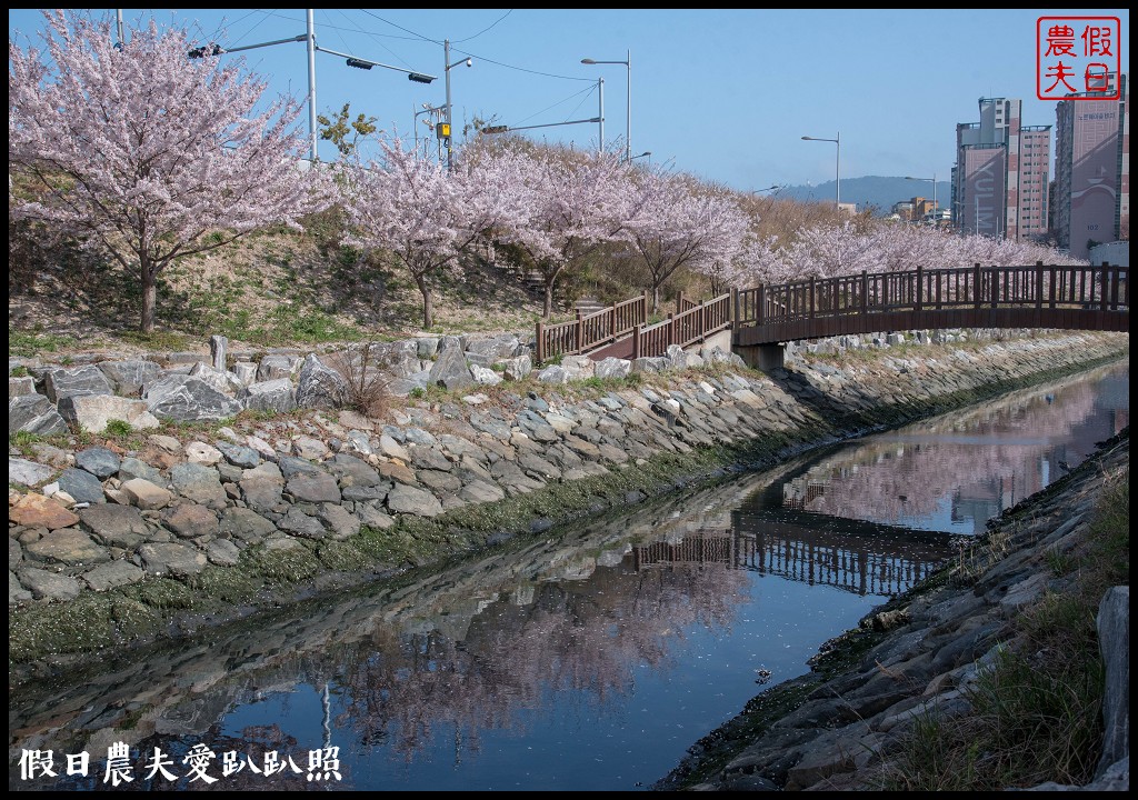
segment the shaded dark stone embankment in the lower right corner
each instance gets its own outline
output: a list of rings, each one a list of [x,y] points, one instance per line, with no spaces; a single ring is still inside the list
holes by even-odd
[[[1073,587],[1079,576],[1056,570],[1057,559],[1083,546],[1104,484],[1127,480],[1129,464],[1124,434],[995,520],[989,545],[960,564],[967,579],[917,586],[879,607],[861,630],[831,643],[832,653],[859,640],[871,645],[848,668],[773,686],[693,747],[654,789],[872,791],[908,777],[894,770],[904,770],[900,745],[916,725],[948,725],[976,714],[971,692],[1001,654],[1046,658],[1028,649],[1012,621],[1046,595]],[[1045,783],[1036,791],[1129,790],[1129,618],[1130,587],[1110,588],[1097,617],[1105,741],[1095,780],[1086,786]],[[820,660],[830,657],[824,649]]]

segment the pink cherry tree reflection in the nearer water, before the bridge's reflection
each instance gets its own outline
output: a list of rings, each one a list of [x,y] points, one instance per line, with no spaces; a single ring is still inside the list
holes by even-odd
[[[444,729],[477,751],[479,731],[518,731],[519,712],[549,692],[602,707],[628,693],[636,667],[666,665],[692,626],[728,625],[747,596],[747,576],[727,564],[650,568],[635,580],[615,569],[539,585],[525,604],[498,599],[461,641],[437,629],[373,640],[340,673],[338,724],[407,760]]]

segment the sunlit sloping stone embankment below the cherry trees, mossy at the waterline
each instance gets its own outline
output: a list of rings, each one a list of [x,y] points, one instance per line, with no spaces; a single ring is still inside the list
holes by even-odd
[[[412,344],[389,348],[404,364],[391,386],[414,386],[384,419],[339,409],[352,366],[315,354],[232,369],[220,347],[212,366],[10,362],[11,658],[92,651],[160,634],[179,609],[249,612],[320,576],[476,550],[1121,358],[1129,338],[916,345],[769,373],[708,348],[603,370],[567,360],[528,381],[517,339]],[[188,424],[147,434],[158,420]]]

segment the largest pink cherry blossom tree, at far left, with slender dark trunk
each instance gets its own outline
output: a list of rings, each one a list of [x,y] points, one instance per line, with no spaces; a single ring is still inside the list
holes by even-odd
[[[8,162],[33,195],[9,192],[9,213],[138,270],[143,332],[173,259],[270,223],[299,229],[325,201],[299,168],[299,106],[256,110],[266,84],[241,59],[191,60],[188,34],[152,20],[115,44],[109,20],[44,16],[42,49],[8,42]]]

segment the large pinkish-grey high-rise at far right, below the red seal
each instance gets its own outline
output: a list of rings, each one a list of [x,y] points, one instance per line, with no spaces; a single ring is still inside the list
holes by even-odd
[[[1107,77],[1104,91],[1067,94],[1055,108],[1055,233],[1075,258],[1130,238],[1130,85],[1125,74]]]

